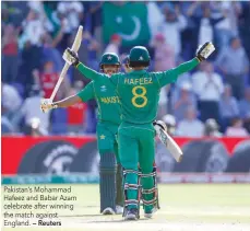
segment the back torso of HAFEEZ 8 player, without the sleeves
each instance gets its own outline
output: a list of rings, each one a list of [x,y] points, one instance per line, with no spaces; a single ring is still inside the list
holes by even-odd
[[[117,76],[117,91],[122,120],[132,124],[152,123],[157,114],[159,83],[154,72],[132,71]]]

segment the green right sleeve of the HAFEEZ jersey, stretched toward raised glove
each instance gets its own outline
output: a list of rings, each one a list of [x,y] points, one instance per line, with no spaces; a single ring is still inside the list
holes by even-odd
[[[190,61],[181,63],[177,68],[172,68],[163,72],[156,72],[155,74],[158,80],[159,86],[163,88],[164,85],[175,82],[180,74],[192,70],[199,65],[199,62],[200,61],[197,58],[193,58]]]

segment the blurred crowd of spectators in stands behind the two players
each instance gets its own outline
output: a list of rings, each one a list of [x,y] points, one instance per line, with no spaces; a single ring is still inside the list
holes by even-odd
[[[5,135],[94,134],[96,102],[80,103],[43,114],[63,67],[61,55],[84,26],[80,60],[98,70],[105,51],[121,60],[131,47],[119,32],[103,38],[104,4],[130,2],[33,1],[1,2],[2,73],[1,129]],[[209,61],[162,89],[158,119],[174,136],[250,135],[250,2],[141,2],[151,39],[150,71],[164,71],[194,57],[211,41],[216,51]],[[120,19],[117,19],[118,21]],[[111,26],[111,25],[110,25]],[[134,44],[139,45],[139,44]],[[121,69],[123,71],[123,68]],[[88,80],[71,68],[57,93],[61,100],[82,90]]]

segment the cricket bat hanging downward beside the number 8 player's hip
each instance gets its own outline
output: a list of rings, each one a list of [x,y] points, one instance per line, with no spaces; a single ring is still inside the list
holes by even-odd
[[[176,141],[165,131],[160,126],[155,125],[155,130],[158,135],[160,141],[166,146],[171,155],[175,158],[177,162],[180,162],[183,157],[183,152],[180,147],[176,143]]]

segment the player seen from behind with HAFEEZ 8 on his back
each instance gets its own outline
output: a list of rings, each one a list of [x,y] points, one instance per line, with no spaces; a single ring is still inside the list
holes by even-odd
[[[205,43],[198,48],[195,58],[183,62],[177,68],[163,72],[147,72],[150,54],[145,47],[136,46],[130,50],[129,66],[131,72],[112,74],[109,79],[115,85],[121,103],[122,123],[118,129],[119,157],[124,176],[124,219],[139,218],[139,187],[142,185],[142,200],[144,217],[151,218],[157,201],[156,187],[153,178],[153,163],[155,160],[155,129],[159,91],[163,86],[174,83],[178,77],[195,68],[202,60],[215,50],[212,43]],[[71,61],[78,65],[76,54],[68,48],[66,53]],[[100,77],[81,66],[82,72],[97,81]],[[138,163],[142,174],[139,177]],[[139,182],[139,178],[141,182]]]

